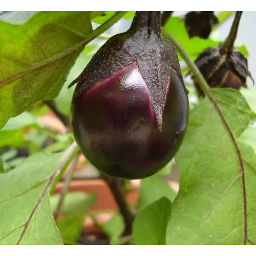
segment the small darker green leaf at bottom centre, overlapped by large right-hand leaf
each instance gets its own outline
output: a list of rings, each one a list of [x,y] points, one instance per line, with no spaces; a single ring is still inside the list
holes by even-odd
[[[133,223],[135,245],[165,245],[166,225],[171,212],[171,202],[162,197],[149,204]]]

